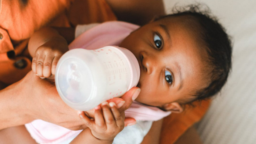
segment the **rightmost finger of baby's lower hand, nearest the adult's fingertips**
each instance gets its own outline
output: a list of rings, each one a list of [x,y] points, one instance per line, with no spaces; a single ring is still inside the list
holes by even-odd
[[[121,116],[119,110],[116,107],[116,104],[114,102],[110,102],[109,106],[111,108],[112,114],[116,121],[116,126],[123,129],[124,128],[124,118]]]

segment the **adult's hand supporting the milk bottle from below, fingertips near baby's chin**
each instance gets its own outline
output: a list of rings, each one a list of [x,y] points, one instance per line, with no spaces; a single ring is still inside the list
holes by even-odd
[[[77,116],[77,111],[70,108],[60,98],[55,85],[46,79],[39,78],[32,71],[16,84],[16,88],[20,90],[19,94],[24,102],[23,105],[20,104],[20,107],[25,107],[24,110],[29,121],[42,119],[70,130],[86,128],[84,122]],[[119,111],[122,112],[131,106],[139,92],[139,88],[132,88],[122,98],[110,101],[114,101],[117,106],[120,105],[120,102],[124,103],[123,101],[125,101],[124,105],[119,108]],[[126,125],[134,122],[134,119],[128,118]]]

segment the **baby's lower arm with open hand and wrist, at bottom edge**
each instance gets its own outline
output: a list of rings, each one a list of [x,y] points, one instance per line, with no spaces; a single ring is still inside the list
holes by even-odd
[[[94,108],[94,120],[88,118],[83,112],[79,116],[88,126],[70,144],[92,143],[112,144],[116,135],[124,129],[124,112],[120,113],[114,102],[103,102]]]

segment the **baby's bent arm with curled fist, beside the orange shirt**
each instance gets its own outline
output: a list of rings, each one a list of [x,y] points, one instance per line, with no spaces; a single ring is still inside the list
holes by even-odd
[[[68,43],[54,28],[42,28],[31,36],[28,51],[33,57],[33,72],[45,78],[55,74],[58,60],[68,51]]]

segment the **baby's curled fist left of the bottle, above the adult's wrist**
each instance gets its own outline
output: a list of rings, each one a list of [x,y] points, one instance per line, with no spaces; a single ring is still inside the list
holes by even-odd
[[[37,48],[32,60],[32,70],[41,78],[48,78],[55,74],[57,62],[63,55],[61,48],[49,41]]]

